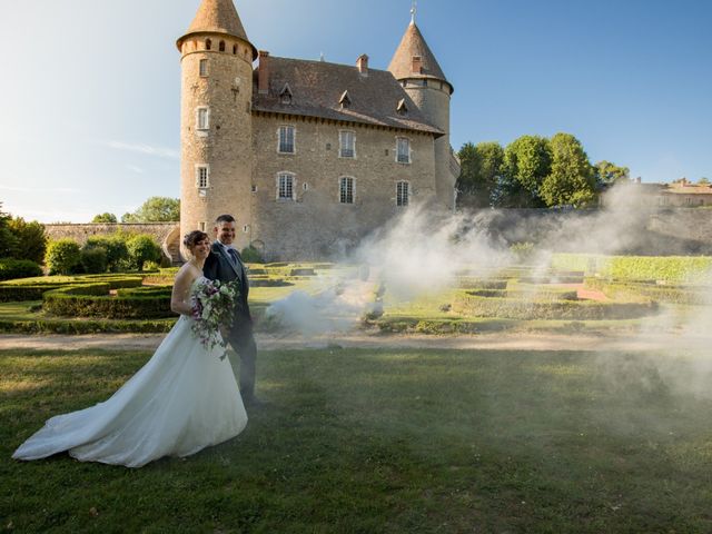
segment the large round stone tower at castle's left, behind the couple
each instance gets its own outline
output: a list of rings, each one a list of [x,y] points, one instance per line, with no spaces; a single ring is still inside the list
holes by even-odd
[[[217,216],[237,221],[236,246],[250,241],[250,102],[257,50],[233,0],[202,0],[180,51],[180,233],[212,237]]]

